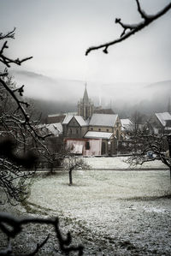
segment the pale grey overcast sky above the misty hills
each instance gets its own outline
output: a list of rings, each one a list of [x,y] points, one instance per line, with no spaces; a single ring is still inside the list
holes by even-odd
[[[141,0],[156,13],[170,1]],[[105,82],[170,80],[171,11],[127,41],[109,48],[109,55],[85,50],[121,34],[115,17],[141,20],[135,0],[0,0],[3,33],[16,27],[9,53],[33,56],[21,68],[53,77]]]

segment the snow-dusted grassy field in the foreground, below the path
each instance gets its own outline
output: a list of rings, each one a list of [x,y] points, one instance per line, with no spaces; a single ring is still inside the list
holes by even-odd
[[[168,170],[75,170],[73,178],[68,186],[67,171],[39,174],[17,213],[59,216],[62,230],[85,246],[85,255],[171,255]],[[16,246],[25,241],[28,250],[48,232],[51,239],[39,255],[62,255],[51,252],[56,240],[47,227],[27,229]]]

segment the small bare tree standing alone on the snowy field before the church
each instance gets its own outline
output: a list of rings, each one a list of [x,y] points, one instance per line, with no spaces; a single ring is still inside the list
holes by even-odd
[[[68,155],[66,158],[64,158],[62,162],[62,166],[68,170],[69,174],[69,185],[73,185],[73,170],[86,170],[90,168],[88,164],[85,163],[83,158],[76,157],[74,155]]]

